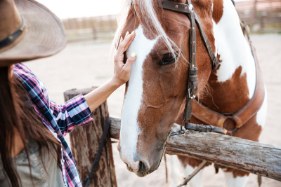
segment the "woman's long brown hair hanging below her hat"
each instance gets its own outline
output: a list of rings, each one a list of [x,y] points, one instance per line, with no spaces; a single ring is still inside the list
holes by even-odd
[[[15,75],[9,78],[9,74],[11,74],[9,71],[11,71],[9,67],[0,67],[0,153],[7,180],[11,186],[18,187],[22,185],[11,156],[15,144],[15,133],[20,132],[20,138],[24,143],[24,150],[27,153],[29,163],[27,139],[37,142],[41,160],[43,147],[46,147],[51,153],[55,150],[59,165],[61,146],[37,116],[30,104],[28,93],[19,79]],[[32,180],[31,167],[30,176]]]

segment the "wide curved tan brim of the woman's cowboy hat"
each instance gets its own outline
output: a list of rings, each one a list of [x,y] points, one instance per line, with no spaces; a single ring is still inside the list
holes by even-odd
[[[46,6],[32,0],[15,0],[15,5],[25,21],[25,36],[0,53],[0,62],[25,62],[54,55],[65,48],[63,24]]]

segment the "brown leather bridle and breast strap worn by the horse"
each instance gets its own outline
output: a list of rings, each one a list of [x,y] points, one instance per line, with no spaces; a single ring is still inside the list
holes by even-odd
[[[233,135],[233,132],[235,132],[237,129],[242,127],[249,118],[254,116],[257,111],[261,108],[261,105],[263,104],[263,99],[265,97],[265,90],[263,87],[263,82],[261,80],[261,74],[259,72],[257,60],[256,60],[256,54],[254,52],[254,46],[251,43],[251,40],[249,39],[249,27],[245,24],[245,22],[241,22],[242,25],[242,30],[243,32],[246,32],[247,38],[249,41],[249,45],[251,47],[251,53],[254,57],[254,62],[256,66],[256,88],[254,91],[253,97],[249,100],[249,102],[242,107],[239,111],[236,113],[233,113],[231,116],[226,116],[220,113],[217,113],[215,111],[211,111],[211,109],[208,109],[205,106],[202,106],[197,102],[195,99],[196,97],[196,92],[198,89],[198,78],[197,78],[197,67],[196,67],[196,25],[199,28],[200,35],[202,36],[202,39],[204,41],[204,46],[207,48],[207,51],[209,53],[209,57],[211,58],[212,61],[212,69],[216,69],[218,67],[218,59],[216,58],[213,50],[211,49],[211,45],[209,43],[209,40],[204,32],[204,29],[200,23],[200,20],[198,19],[193,6],[191,4],[191,0],[185,1],[185,4],[181,3],[176,3],[174,1],[168,1],[168,0],[162,0],[162,8],[169,10],[169,11],[174,11],[176,13],[183,13],[188,16],[188,19],[190,20],[190,56],[189,56],[189,69],[188,69],[188,87],[187,87],[187,93],[186,93],[186,102],[185,102],[185,109],[183,112],[183,121],[181,123],[181,130],[178,132],[172,132],[170,136],[174,136],[177,134],[184,134],[185,130],[195,130],[198,132],[217,132],[221,134],[225,134],[223,131],[223,124],[226,121],[227,118],[232,119],[235,122],[235,129],[234,130],[226,130],[228,135]],[[190,123],[190,119],[192,116],[192,102],[193,99],[195,99],[195,117],[203,120],[204,123],[209,124],[209,125],[197,125],[197,124],[192,124]],[[202,113],[202,111],[204,111]],[[198,116],[198,114],[200,114]],[[206,115],[207,114],[207,115]],[[210,118],[212,118],[210,120]],[[213,118],[215,120],[213,120]],[[211,123],[213,122],[214,123]],[[183,130],[183,124],[185,127],[185,130]],[[213,126],[214,125],[214,126]],[[185,178],[183,183],[178,185],[184,186],[192,179],[197,172],[200,171],[205,165],[207,165],[207,161],[204,160],[202,163],[195,169],[192,174],[190,174],[188,177]]]

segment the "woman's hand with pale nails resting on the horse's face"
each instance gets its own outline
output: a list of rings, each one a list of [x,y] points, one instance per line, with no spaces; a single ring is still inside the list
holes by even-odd
[[[120,39],[119,47],[115,54],[115,71],[112,77],[112,81],[114,81],[117,85],[122,85],[129,81],[131,65],[136,60],[136,53],[131,53],[131,55],[126,60],[126,64],[123,62],[124,53],[130,46],[135,36],[135,32],[131,32],[131,34],[127,32],[125,38]]]

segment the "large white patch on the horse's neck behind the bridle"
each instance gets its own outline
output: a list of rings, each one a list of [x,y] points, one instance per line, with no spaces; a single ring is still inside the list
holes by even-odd
[[[231,15],[230,15],[231,14]],[[223,1],[223,16],[214,25],[216,54],[221,55],[221,67],[217,71],[218,81],[224,82],[233,76],[238,67],[247,75],[249,98],[254,95],[256,67],[248,41],[242,34],[240,20],[231,1]]]

